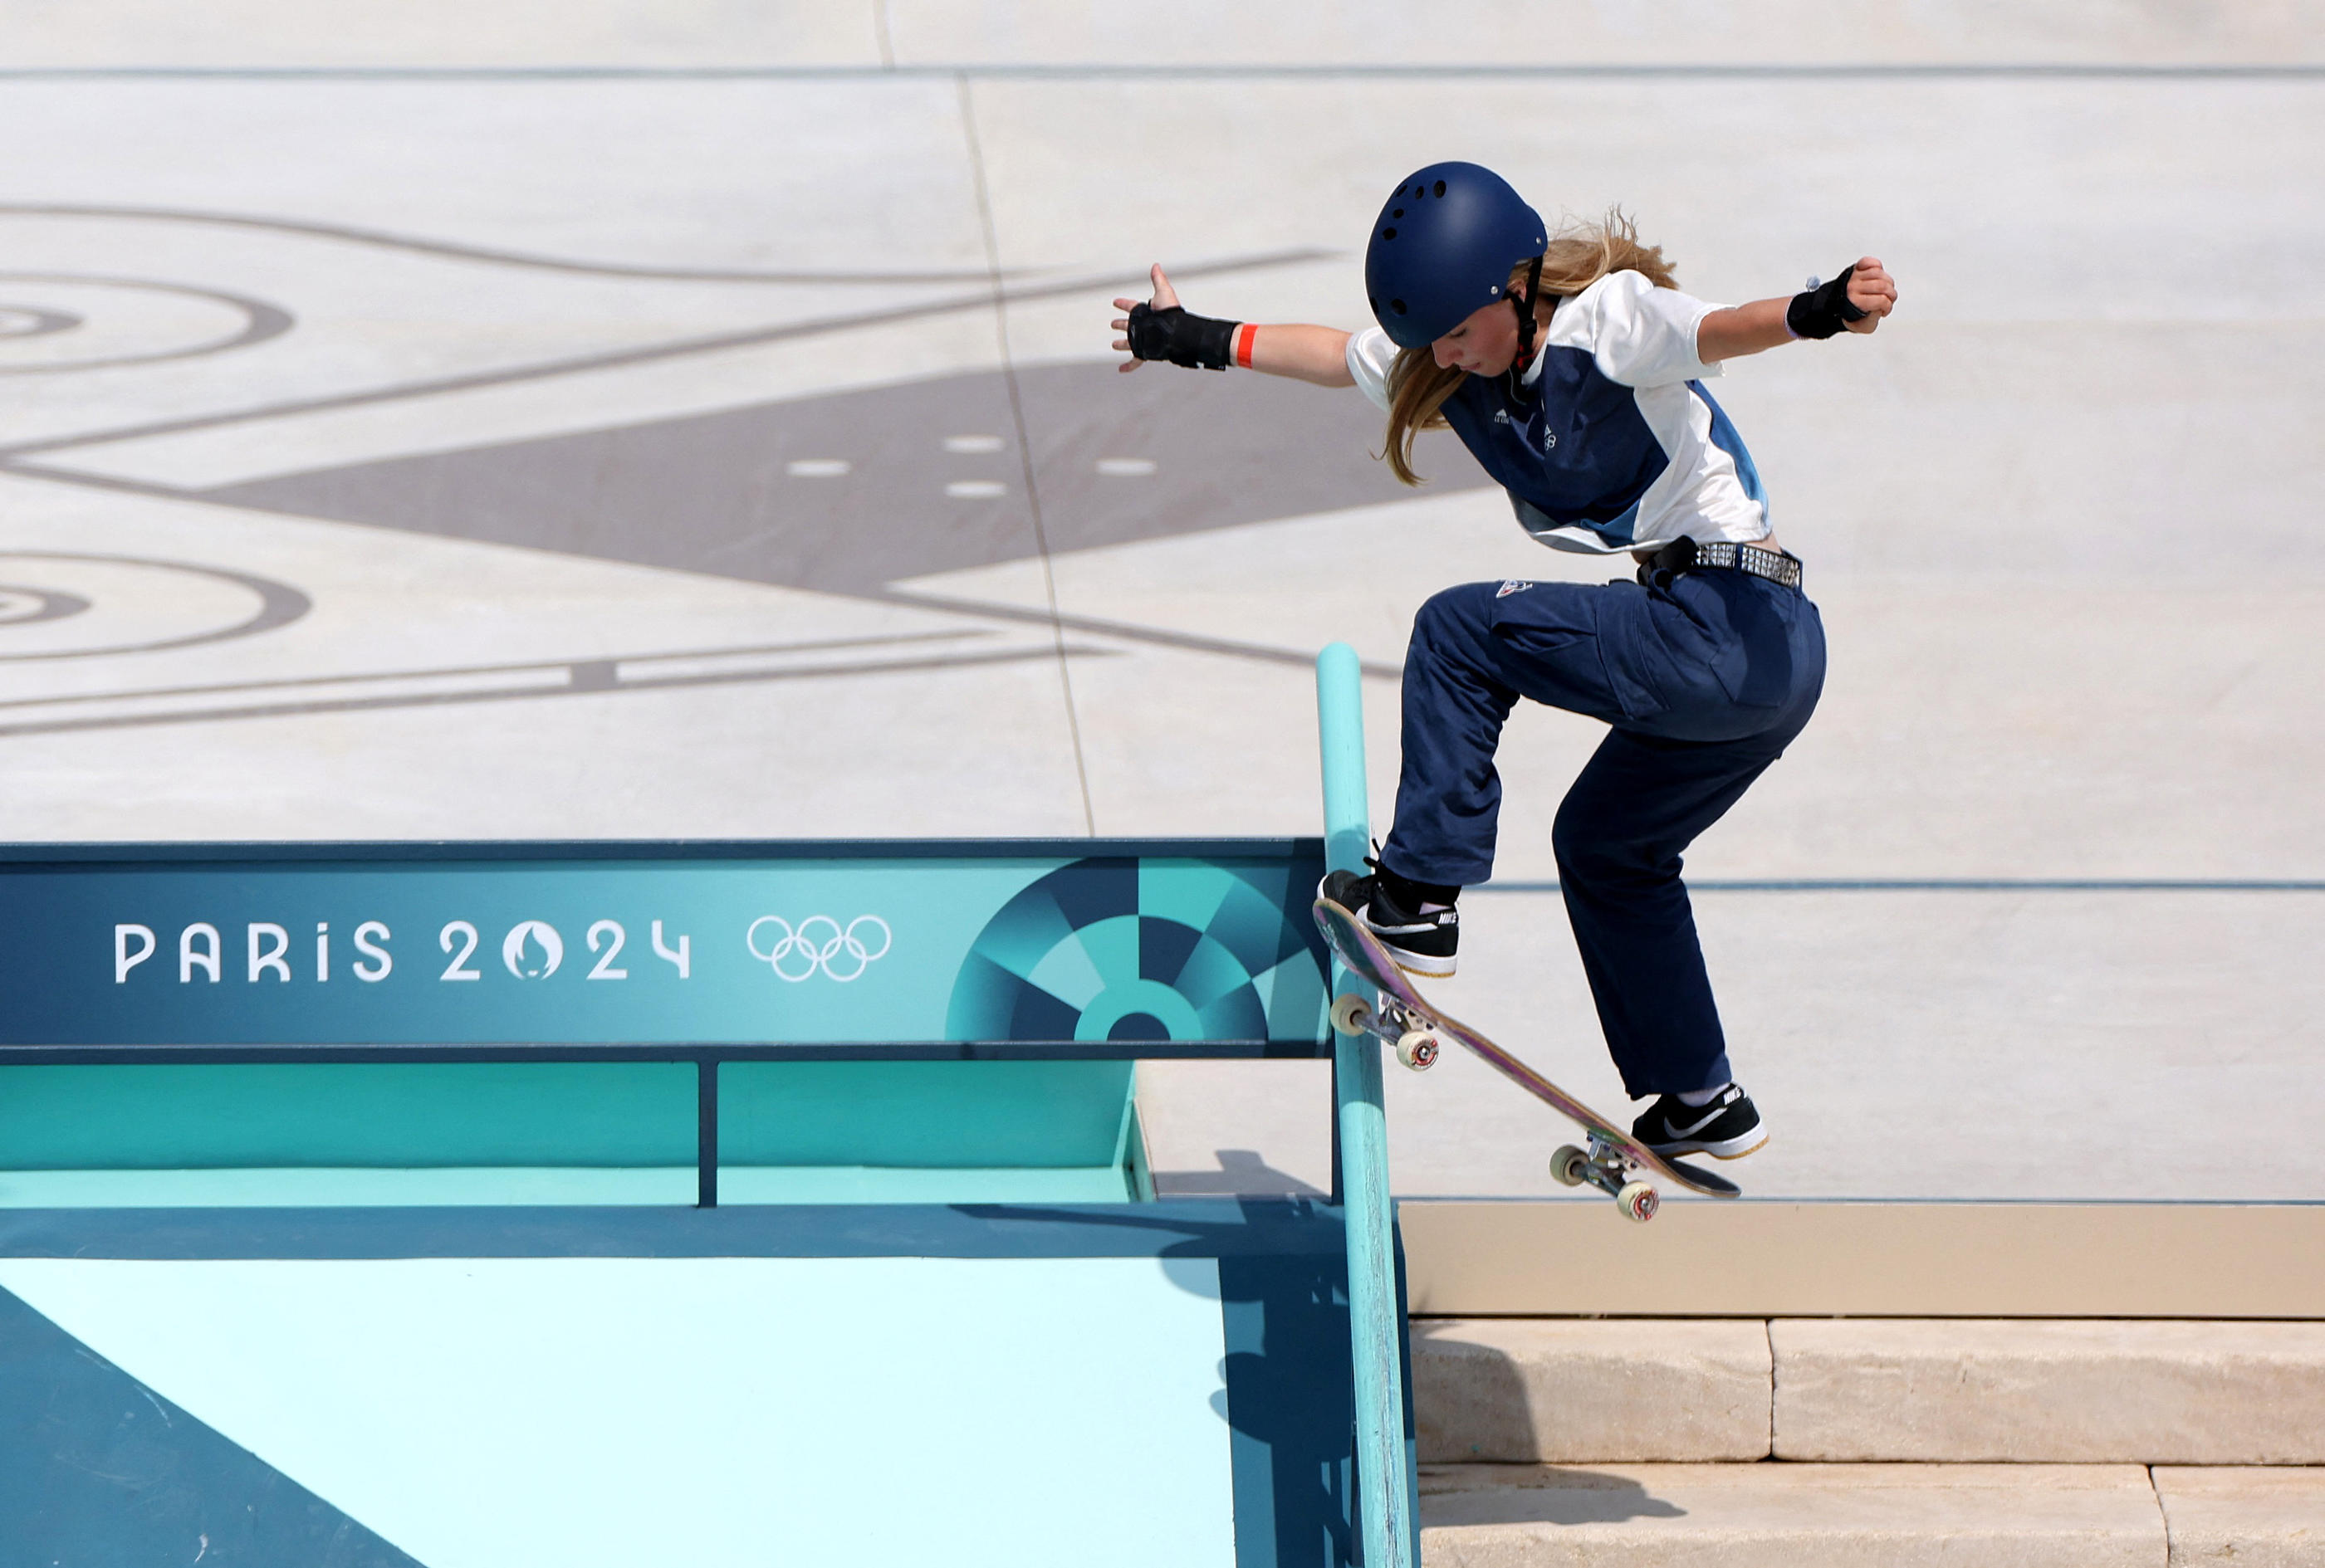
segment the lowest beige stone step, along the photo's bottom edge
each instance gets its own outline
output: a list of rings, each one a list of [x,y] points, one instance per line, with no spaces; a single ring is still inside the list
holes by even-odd
[[[1423,1568],[2313,1568],[2325,1470],[1425,1466]]]

